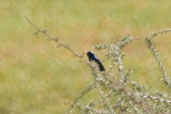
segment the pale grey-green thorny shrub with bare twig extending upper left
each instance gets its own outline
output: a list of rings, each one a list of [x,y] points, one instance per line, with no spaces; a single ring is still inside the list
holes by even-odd
[[[163,74],[163,82],[167,86],[170,86],[170,80],[166,77],[166,73],[163,69],[163,65],[156,54],[156,49],[152,44],[152,38],[171,32],[171,29],[164,31],[155,32],[146,37],[125,37],[118,41],[116,44],[110,45],[97,45],[95,49],[107,49],[107,56],[113,58],[111,68],[106,72],[99,72],[96,66],[87,60],[83,59],[83,55],[78,54],[76,51],[71,49],[66,44],[59,41],[59,38],[54,38],[45,30],[39,29],[34,25],[26,16],[25,19],[34,27],[37,33],[42,33],[48,40],[55,41],[58,47],[63,47],[74,56],[80,58],[81,61],[88,64],[91,68],[91,73],[94,80],[88,85],[86,89],[81,92],[81,95],[74,99],[74,102],[70,104],[71,108],[68,109],[66,114],[73,113],[74,107],[80,107],[80,110],[83,114],[116,114],[116,113],[138,113],[138,114],[169,114],[171,113],[171,97],[165,93],[155,93],[152,94],[144,89],[143,86],[133,82],[128,81],[130,70],[126,71],[123,69],[124,63],[122,62],[122,49],[130,44],[131,42],[138,39],[146,39],[149,49],[151,50],[152,55],[156,59],[157,63],[160,66],[160,70]],[[117,66],[120,77],[120,80],[113,80],[112,76],[115,76],[116,73],[112,72],[114,66]],[[125,73],[126,72],[126,73]],[[106,88],[105,90],[101,88]],[[100,89],[98,89],[100,88]],[[80,100],[92,89],[99,91],[101,98],[96,101],[90,101],[85,107],[81,105]],[[118,100],[117,100],[117,99]],[[115,99],[112,102],[112,99]],[[103,104],[103,107],[98,108],[100,104]]]

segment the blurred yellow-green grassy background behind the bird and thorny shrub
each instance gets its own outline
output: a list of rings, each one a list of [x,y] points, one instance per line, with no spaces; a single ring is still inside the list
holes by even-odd
[[[92,80],[90,69],[43,35],[34,35],[23,15],[81,54],[97,44],[114,44],[128,34],[145,36],[171,28],[171,1],[0,1],[0,114],[63,114]],[[168,74],[170,38],[168,33],[154,39]],[[101,60],[106,58],[93,51]],[[133,42],[124,54],[125,68],[133,70],[132,80],[150,91],[171,94],[145,40]],[[84,102],[93,97],[89,93]]]

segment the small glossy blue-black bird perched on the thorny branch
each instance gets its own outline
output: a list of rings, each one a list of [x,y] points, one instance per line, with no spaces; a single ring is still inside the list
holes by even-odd
[[[104,66],[102,65],[100,60],[94,55],[93,52],[91,52],[91,51],[87,52],[87,56],[89,58],[89,61],[94,61],[94,62],[96,62],[98,64],[100,71],[105,71]]]

